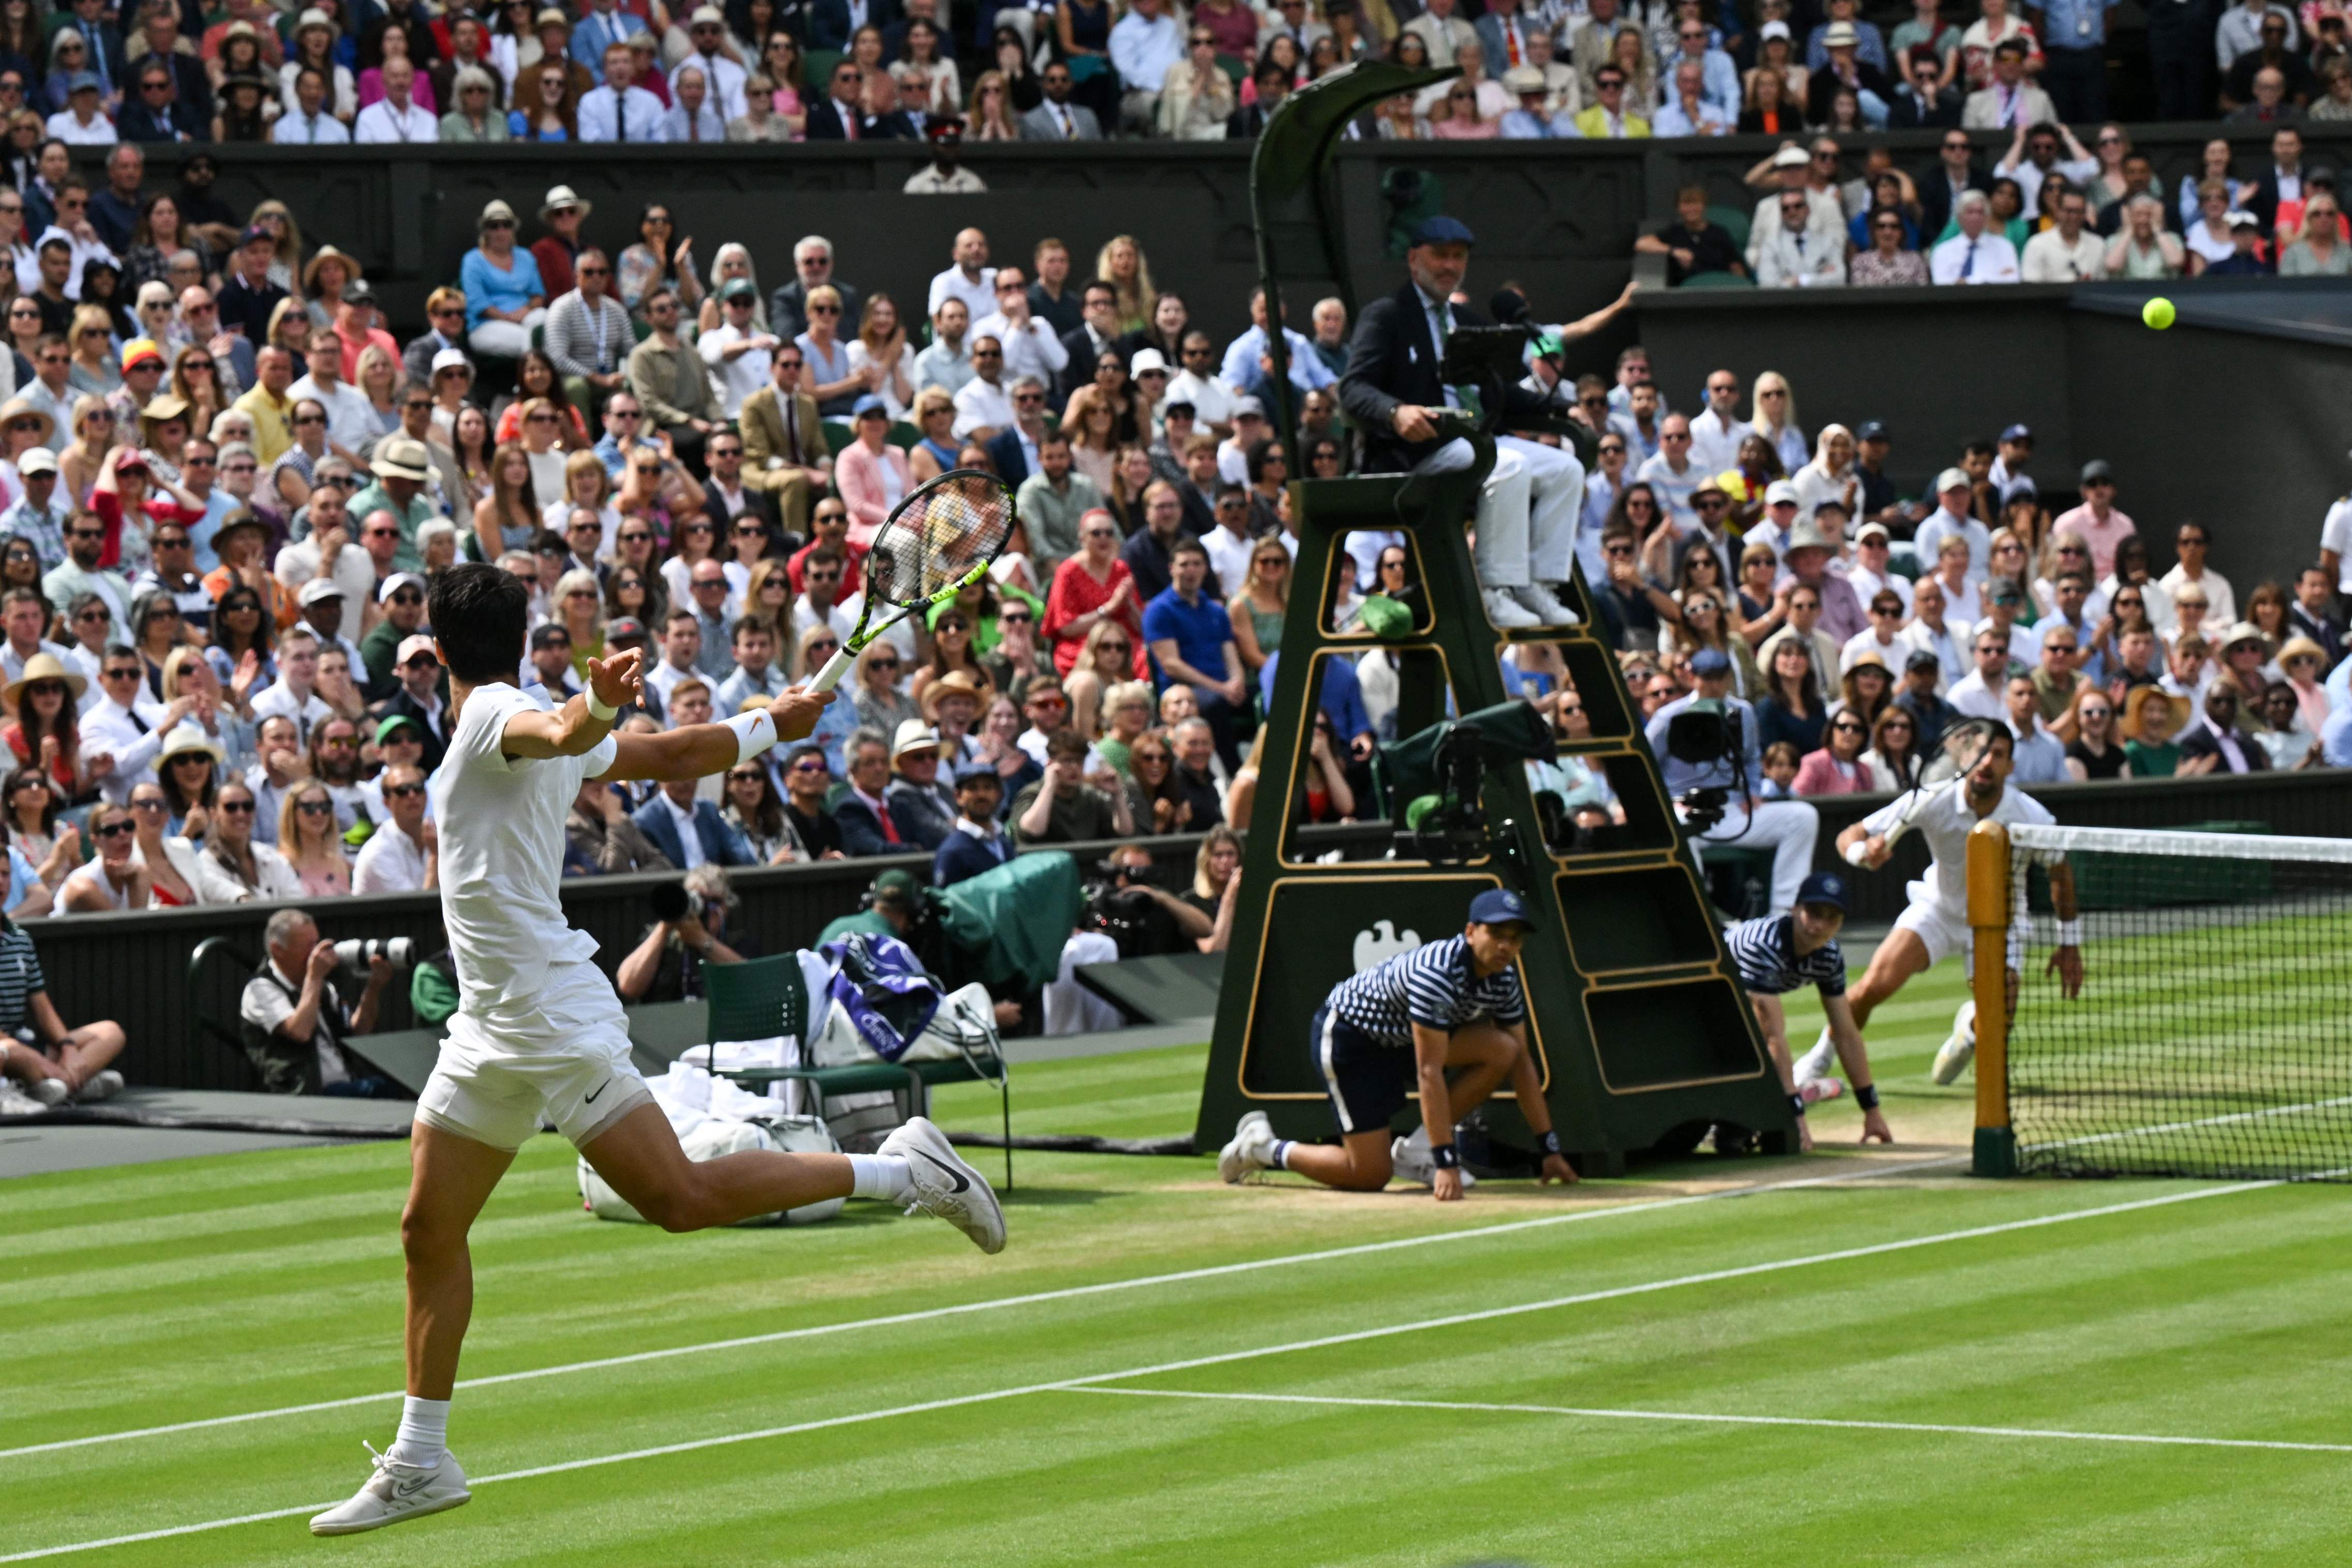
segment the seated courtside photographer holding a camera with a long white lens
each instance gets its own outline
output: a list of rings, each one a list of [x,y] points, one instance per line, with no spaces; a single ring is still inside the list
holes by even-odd
[[[268,961],[245,983],[238,1006],[245,1056],[261,1074],[261,1088],[273,1095],[329,1093],[369,1100],[402,1098],[397,1084],[362,1063],[358,1072],[343,1058],[343,1039],[376,1027],[376,1004],[393,978],[393,961],[381,952],[367,959],[367,985],[360,1006],[346,1011],[329,976],[341,964],[334,943],[301,910],[278,910],[263,926]]]

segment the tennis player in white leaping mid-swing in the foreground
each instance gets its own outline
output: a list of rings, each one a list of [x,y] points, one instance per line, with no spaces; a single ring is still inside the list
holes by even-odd
[[[400,1434],[313,1535],[350,1535],[437,1514],[470,1497],[445,1446],[459,1347],[473,1314],[466,1232],[541,1117],[614,1192],[663,1229],[734,1225],[821,1199],[868,1197],[948,1220],[983,1253],[1004,1246],[1004,1211],[936,1126],[915,1117],[875,1154],[746,1152],[694,1164],[628,1060],[628,1020],[595,966],[595,938],[555,896],[564,811],[586,778],[701,778],[807,736],[823,693],[786,691],[727,724],[659,736],[612,733],[640,693],[637,654],[588,661],[588,691],[548,708],[517,684],[529,592],[499,567],[449,567],[430,616],[456,731],[433,776],[440,893],[459,1011],[416,1098],[407,1255],[407,1403]]]

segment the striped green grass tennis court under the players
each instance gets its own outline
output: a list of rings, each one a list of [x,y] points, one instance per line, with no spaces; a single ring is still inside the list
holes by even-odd
[[[539,1138],[475,1229],[475,1500],[334,1542],[397,1410],[405,1145],[9,1182],[0,1559],[285,1512],[73,1561],[2338,1561],[2352,1204],[1964,1178],[1957,999],[1872,1025],[1886,1154],[1851,1100],[1811,1161],[1451,1208],[1023,1154],[995,1260],[873,1204],[600,1225]],[[1200,1060],[1018,1070],[1018,1131],[1178,1133]]]

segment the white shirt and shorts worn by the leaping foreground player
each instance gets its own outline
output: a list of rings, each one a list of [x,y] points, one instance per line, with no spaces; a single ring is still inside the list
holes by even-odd
[[[459,1009],[416,1119],[501,1150],[522,1147],[541,1117],[588,1143],[649,1098],[595,938],[557,898],[564,813],[581,780],[612,766],[614,741],[583,757],[503,752],[517,712],[550,710],[536,691],[475,686],[430,788]]]

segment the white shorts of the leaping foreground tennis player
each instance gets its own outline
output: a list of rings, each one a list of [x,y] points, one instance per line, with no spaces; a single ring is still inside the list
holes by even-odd
[[[654,1100],[628,1060],[628,1020],[621,999],[595,964],[564,964],[548,973],[541,1016],[555,1044],[503,1041],[463,1013],[449,1039],[416,1119],[494,1150],[520,1150],[541,1121],[586,1147],[614,1121]]]

